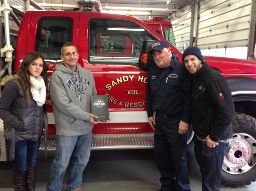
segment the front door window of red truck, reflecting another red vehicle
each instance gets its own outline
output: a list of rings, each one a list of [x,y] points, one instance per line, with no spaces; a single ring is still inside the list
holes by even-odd
[[[116,19],[91,19],[89,58],[93,64],[138,66],[144,40],[156,40],[136,23]]]

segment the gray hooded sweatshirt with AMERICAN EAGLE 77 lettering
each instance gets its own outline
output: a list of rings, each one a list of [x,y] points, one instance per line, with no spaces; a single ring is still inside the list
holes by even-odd
[[[63,64],[53,69],[49,85],[56,135],[85,135],[93,129],[91,96],[97,94],[93,74],[77,63],[77,71]]]

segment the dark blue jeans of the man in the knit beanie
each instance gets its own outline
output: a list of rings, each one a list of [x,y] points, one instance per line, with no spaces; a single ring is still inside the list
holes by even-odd
[[[220,190],[221,169],[228,145],[219,142],[215,148],[210,148],[206,141],[196,140],[194,150],[202,173],[202,191]]]

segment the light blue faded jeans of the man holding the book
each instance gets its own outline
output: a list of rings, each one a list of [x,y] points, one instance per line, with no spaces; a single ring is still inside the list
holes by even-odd
[[[46,185],[47,191],[60,191],[64,174],[71,164],[71,172],[67,181],[67,189],[75,191],[81,187],[83,170],[90,153],[93,133],[80,136],[56,136],[55,158],[50,167],[50,181]]]

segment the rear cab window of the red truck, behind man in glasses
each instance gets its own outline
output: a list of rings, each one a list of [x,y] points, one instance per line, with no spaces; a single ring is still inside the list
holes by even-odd
[[[62,62],[60,48],[72,42],[73,19],[67,17],[41,17],[36,31],[35,51],[47,62]]]

